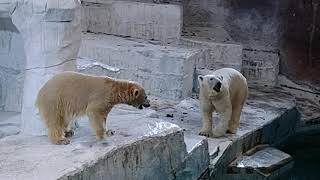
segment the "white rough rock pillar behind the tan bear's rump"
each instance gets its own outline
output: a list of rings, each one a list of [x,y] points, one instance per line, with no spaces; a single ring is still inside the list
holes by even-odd
[[[69,0],[19,1],[12,22],[26,52],[21,130],[44,134],[35,108],[38,90],[54,74],[75,70],[81,42],[80,3]]]

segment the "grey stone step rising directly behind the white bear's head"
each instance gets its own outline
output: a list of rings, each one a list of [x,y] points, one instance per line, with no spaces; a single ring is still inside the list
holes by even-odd
[[[206,54],[205,58],[196,63],[196,67],[216,70],[230,67],[242,69],[242,46],[232,41],[221,28],[188,27],[183,31],[181,44],[188,47],[198,47]],[[219,35],[223,34],[223,35]]]

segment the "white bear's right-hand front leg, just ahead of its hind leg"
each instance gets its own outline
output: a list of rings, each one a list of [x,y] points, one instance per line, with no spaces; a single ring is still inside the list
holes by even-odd
[[[221,109],[221,108],[220,108]],[[230,102],[227,102],[223,109],[219,109],[221,120],[219,124],[213,130],[213,137],[220,137],[226,134],[229,121],[232,115],[232,106]]]

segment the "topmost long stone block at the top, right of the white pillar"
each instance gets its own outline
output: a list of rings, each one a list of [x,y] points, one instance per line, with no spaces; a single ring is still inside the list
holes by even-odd
[[[84,0],[83,7],[83,31],[151,39],[164,44],[180,38],[180,5]]]

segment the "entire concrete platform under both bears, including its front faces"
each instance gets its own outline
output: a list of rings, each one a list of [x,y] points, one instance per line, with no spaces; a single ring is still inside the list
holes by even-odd
[[[108,125],[115,135],[101,142],[95,140],[86,118],[66,146],[52,145],[46,136],[0,139],[0,179],[223,177],[227,166],[252,147],[285,140],[293,133],[297,116],[294,99],[281,90],[250,89],[237,134],[205,138],[197,135],[198,100],[153,98],[151,109],[125,105],[113,109]]]

